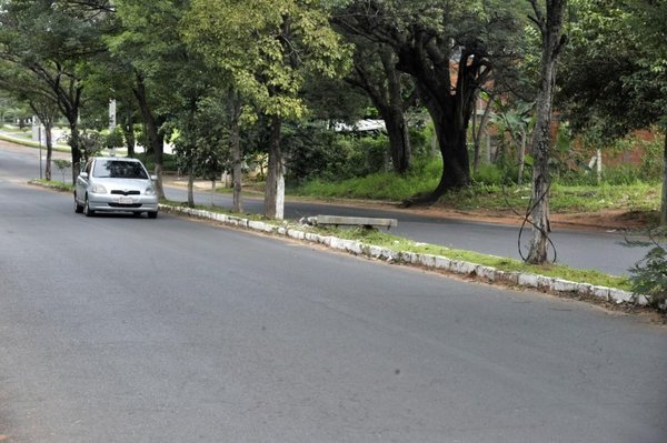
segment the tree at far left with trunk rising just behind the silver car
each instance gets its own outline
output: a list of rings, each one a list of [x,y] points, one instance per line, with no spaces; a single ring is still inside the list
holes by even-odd
[[[81,68],[104,51],[108,9],[107,0],[8,0],[0,11],[0,58],[39,79],[69,123],[72,180],[81,167]]]

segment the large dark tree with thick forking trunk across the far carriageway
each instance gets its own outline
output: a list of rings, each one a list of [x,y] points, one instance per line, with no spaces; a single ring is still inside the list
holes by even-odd
[[[334,20],[346,32],[394,49],[435,123],[442,154],[437,188],[415,201],[435,201],[470,182],[467,132],[477,91],[517,54],[515,2],[477,0],[352,0]],[[496,82],[500,78],[496,77]]]

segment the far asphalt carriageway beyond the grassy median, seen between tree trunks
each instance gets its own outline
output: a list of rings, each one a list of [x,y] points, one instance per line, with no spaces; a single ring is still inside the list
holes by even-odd
[[[0,142],[0,164],[4,164],[8,170],[11,170],[14,177],[26,180],[39,177],[38,159],[37,150],[16,148],[16,145]],[[54,177],[60,175],[57,170],[53,173]],[[66,177],[69,179],[70,175],[71,173],[68,173]],[[171,200],[187,200],[187,191],[182,187],[167,187],[165,193]],[[197,193],[196,201],[201,204],[210,204],[210,192]],[[231,195],[216,195],[215,204],[231,209]],[[262,213],[263,201],[246,198],[245,209],[249,212]],[[392,218],[399,220],[398,228],[391,231],[397,235],[448,248],[520,259],[517,243],[519,229],[516,226],[425,217],[398,209],[385,211],[374,208],[298,201],[286,202],[285,213],[290,219],[317,214]],[[527,244],[530,239],[529,231],[524,233],[524,244]],[[647,251],[641,248],[624,248],[620,243],[624,242],[625,236],[618,232],[556,229],[551,240],[556,245],[558,262],[573,268],[594,269],[614,275],[627,275],[628,269],[643,259]],[[526,248],[524,248],[524,252],[527,253]]]

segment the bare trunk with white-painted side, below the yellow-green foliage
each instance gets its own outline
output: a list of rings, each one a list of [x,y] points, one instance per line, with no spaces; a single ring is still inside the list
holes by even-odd
[[[285,165],[280,151],[279,117],[271,117],[271,135],[269,140],[269,165],[267,168],[267,188],[265,191],[265,215],[269,219],[285,218]]]

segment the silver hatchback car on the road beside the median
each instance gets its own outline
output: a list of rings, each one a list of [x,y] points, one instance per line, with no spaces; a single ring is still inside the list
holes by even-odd
[[[94,157],[77,178],[74,211],[87,217],[96,212],[146,212],[158,217],[158,195],[143,164],[136,159]]]

